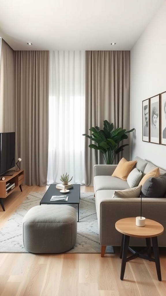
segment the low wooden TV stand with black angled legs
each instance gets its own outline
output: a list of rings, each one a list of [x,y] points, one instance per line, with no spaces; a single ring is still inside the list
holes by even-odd
[[[18,170],[18,171],[12,170],[11,172],[12,172],[12,175],[4,175],[5,177],[4,181],[0,180],[0,204],[3,211],[5,211],[4,198],[8,197],[8,195],[11,194],[18,187],[22,191],[21,184],[24,181],[24,170]],[[14,183],[15,186],[14,187],[12,186],[9,189],[7,189],[6,184],[9,184],[9,183],[11,184]]]

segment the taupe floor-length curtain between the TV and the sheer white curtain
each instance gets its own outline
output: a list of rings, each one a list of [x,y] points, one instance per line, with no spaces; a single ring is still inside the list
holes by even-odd
[[[48,169],[49,52],[15,52],[16,144],[25,184],[45,186]]]

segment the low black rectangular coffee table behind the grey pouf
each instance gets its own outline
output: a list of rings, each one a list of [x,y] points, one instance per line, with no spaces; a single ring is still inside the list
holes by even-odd
[[[69,196],[68,201],[50,201],[53,195],[67,195]],[[69,188],[69,192],[62,193],[60,189],[56,189],[56,184],[51,184],[48,190],[45,192],[40,205],[78,205],[78,222],[79,222],[79,201],[80,201],[80,184],[74,184],[73,188]]]

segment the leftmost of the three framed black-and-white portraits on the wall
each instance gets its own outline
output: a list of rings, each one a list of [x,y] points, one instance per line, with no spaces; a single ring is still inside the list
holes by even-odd
[[[142,101],[142,141],[149,142],[149,99]]]

